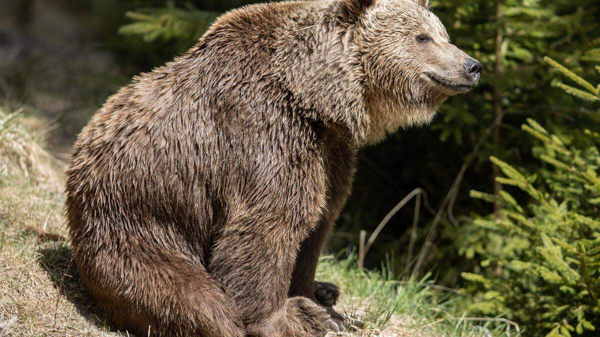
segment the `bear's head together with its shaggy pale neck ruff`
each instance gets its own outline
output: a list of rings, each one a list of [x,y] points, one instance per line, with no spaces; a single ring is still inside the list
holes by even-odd
[[[359,145],[427,124],[481,76],[481,64],[450,43],[427,0],[312,3],[317,22],[284,29],[272,66],[301,109],[346,125]]]

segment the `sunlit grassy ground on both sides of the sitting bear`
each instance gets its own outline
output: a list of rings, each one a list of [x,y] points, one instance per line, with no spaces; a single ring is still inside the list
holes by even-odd
[[[44,150],[44,124],[0,110],[0,336],[113,336],[79,282],[64,225],[64,166]],[[456,294],[399,282],[354,257],[323,257],[317,278],[340,285],[353,336],[499,336],[505,324],[454,317]],[[460,296],[460,295],[459,295]]]

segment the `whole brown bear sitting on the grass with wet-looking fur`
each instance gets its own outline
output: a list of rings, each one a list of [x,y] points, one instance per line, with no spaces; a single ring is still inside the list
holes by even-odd
[[[341,323],[337,289],[314,274],[356,151],[426,124],[481,73],[427,7],[243,7],[109,98],[75,145],[67,216],[116,327],[310,336]]]

